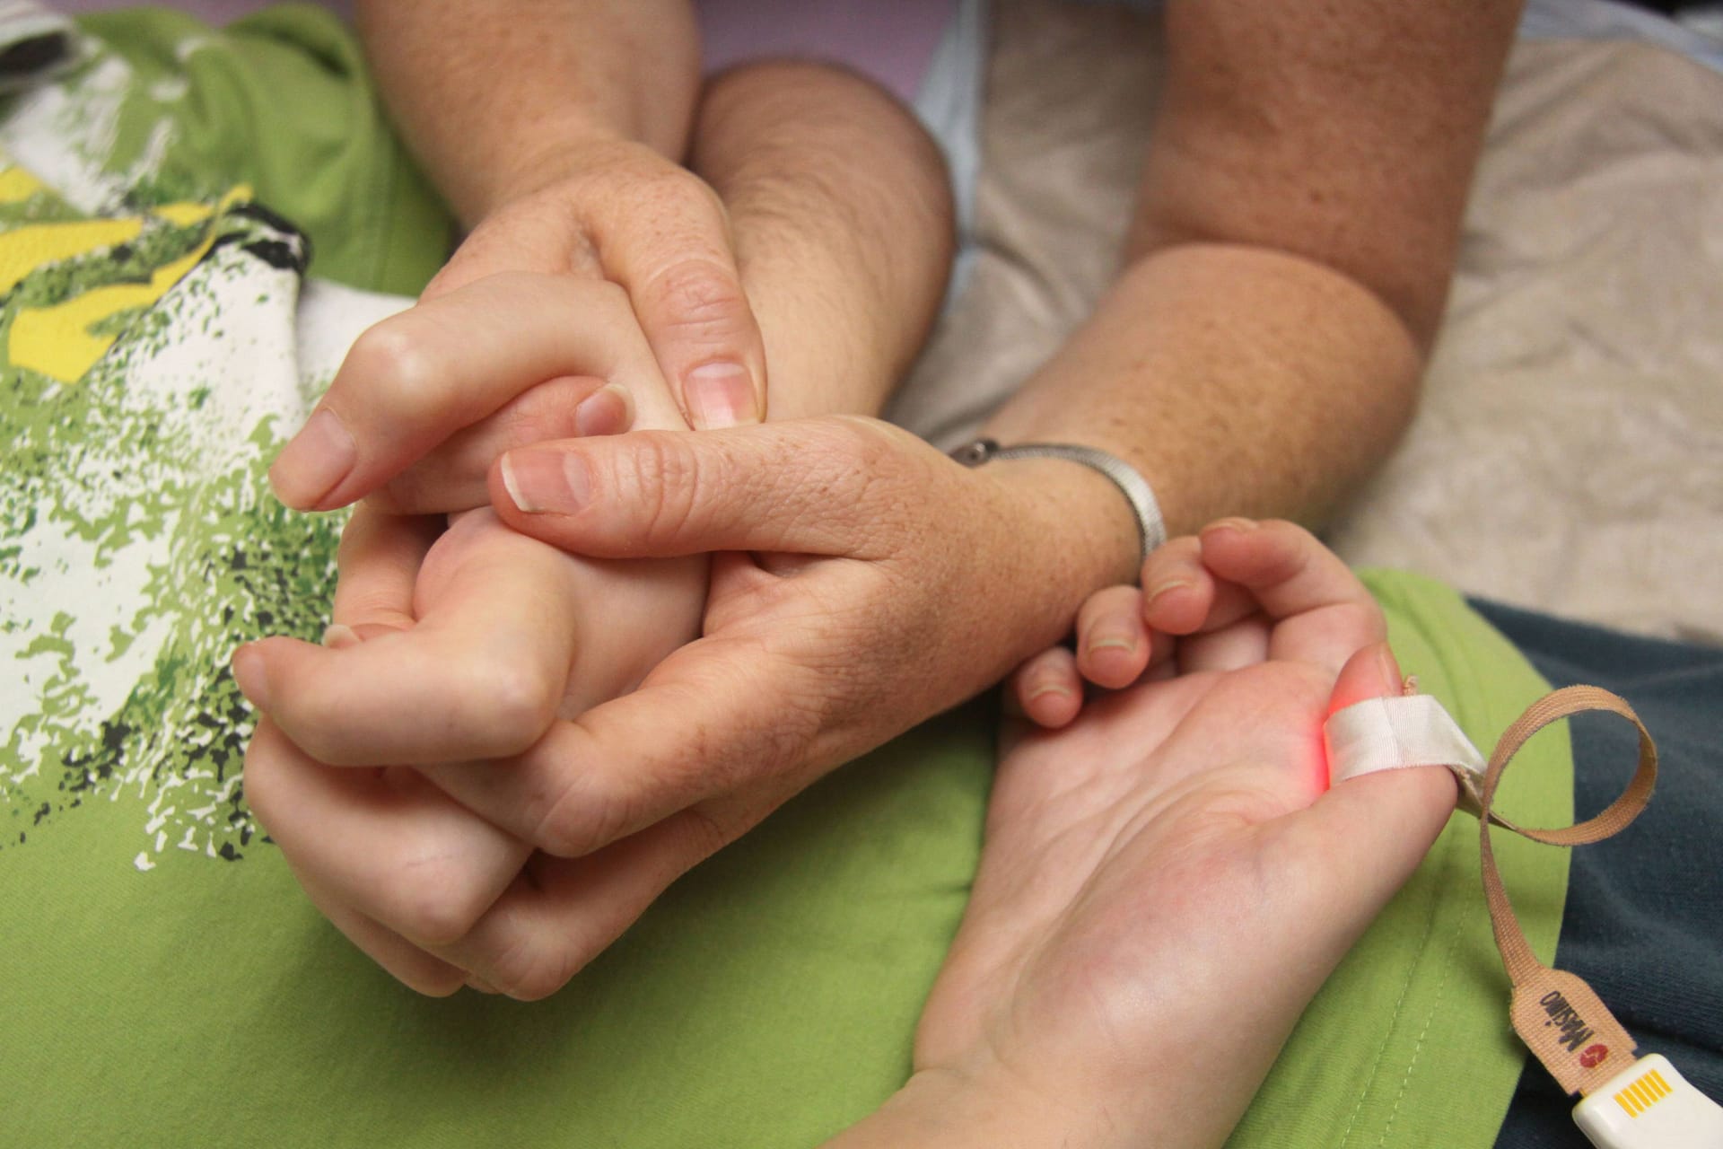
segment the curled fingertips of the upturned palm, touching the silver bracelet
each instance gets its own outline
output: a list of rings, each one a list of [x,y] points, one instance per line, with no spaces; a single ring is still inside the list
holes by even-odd
[[[1241,531],[1266,532],[1263,537],[1284,546],[1280,562],[1309,563],[1311,570],[1327,572],[1335,589],[1344,581],[1363,594],[1351,572],[1303,527],[1222,519],[1149,555],[1142,563],[1142,589],[1111,586],[1091,594],[1077,612],[1075,653],[1054,646],[1013,672],[1006,686],[1013,710],[1037,725],[1058,729],[1082,710],[1084,682],[1117,691],[1144,674],[1158,679],[1223,670],[1254,653],[1266,641],[1261,603],[1244,593],[1239,572],[1227,567],[1235,550],[1228,539]],[[1211,562],[1215,556],[1220,565]],[[1375,610],[1373,603],[1365,603],[1368,596],[1363,603],[1349,599],[1347,610]],[[1327,622],[1304,620],[1301,625]]]

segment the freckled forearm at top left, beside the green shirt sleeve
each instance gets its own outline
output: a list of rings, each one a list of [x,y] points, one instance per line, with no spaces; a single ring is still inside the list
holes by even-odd
[[[700,86],[689,0],[360,0],[355,17],[395,122],[469,227],[570,174],[584,141],[682,158]]]

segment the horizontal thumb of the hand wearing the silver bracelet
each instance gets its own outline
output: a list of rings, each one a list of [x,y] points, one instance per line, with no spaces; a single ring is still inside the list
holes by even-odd
[[[600,558],[879,558],[879,525],[920,501],[908,496],[924,455],[942,458],[872,419],[636,431],[508,451],[491,470],[491,501],[515,531]]]

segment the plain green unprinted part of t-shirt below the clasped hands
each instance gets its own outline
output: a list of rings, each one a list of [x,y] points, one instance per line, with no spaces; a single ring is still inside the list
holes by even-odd
[[[0,1144],[812,1146],[908,1073],[987,725],[853,763],[538,1004],[419,997],[272,848],[136,873],[136,803],[86,806],[0,853]]]

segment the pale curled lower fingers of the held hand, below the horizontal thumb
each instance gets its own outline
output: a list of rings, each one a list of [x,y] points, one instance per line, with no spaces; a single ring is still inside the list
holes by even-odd
[[[451,992],[479,965],[462,942],[476,947],[493,906],[548,887],[522,877],[532,844],[500,829],[498,772],[526,770],[519,756],[553,724],[631,691],[698,634],[706,558],[588,560],[489,510],[438,534],[362,506],[341,560],[367,574],[343,581],[329,646],[274,637],[234,656],[264,711],[246,799],[338,929],[408,985]],[[584,889],[622,910],[627,880],[612,870]]]

